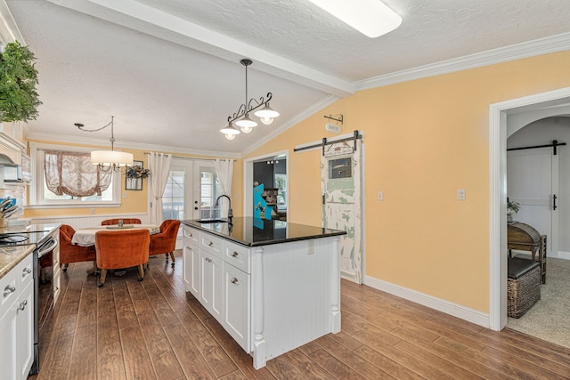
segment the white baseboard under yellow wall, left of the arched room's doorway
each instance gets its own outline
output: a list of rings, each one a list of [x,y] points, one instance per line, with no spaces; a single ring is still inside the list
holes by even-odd
[[[428,306],[436,311],[442,311],[446,314],[452,315],[453,317],[467,320],[468,322],[475,323],[482,327],[490,328],[491,326],[488,313],[476,311],[475,309],[471,309],[457,303],[451,303],[441,298],[434,297],[433,295],[426,295],[416,290],[400,287],[381,279],[374,279],[370,276],[364,276],[364,285],[414,303]]]

